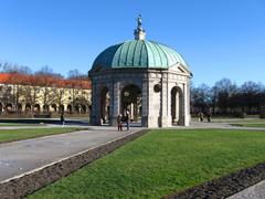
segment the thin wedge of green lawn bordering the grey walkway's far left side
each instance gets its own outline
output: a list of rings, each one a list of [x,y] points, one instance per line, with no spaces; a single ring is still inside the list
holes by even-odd
[[[25,129],[0,129],[0,144],[20,139],[29,139],[54,134],[65,134],[84,128],[65,127],[65,128],[25,128]]]

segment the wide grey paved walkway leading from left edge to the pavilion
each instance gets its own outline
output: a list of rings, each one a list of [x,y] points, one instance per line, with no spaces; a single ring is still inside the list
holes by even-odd
[[[104,127],[0,145],[0,182],[130,133]]]

